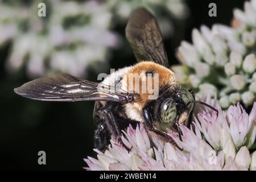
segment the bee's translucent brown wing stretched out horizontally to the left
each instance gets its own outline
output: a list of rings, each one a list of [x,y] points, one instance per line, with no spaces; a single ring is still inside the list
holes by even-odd
[[[27,82],[15,88],[14,92],[26,98],[42,101],[131,102],[135,96],[114,86],[82,80],[65,73]]]

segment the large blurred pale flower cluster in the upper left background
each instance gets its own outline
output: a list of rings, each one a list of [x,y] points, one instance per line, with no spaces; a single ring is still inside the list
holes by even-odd
[[[51,71],[82,76],[92,61],[106,58],[108,47],[118,46],[109,31],[112,14],[97,1],[46,2],[46,17],[38,16],[41,1],[0,3],[0,45],[13,40],[7,68],[27,63],[28,76]]]

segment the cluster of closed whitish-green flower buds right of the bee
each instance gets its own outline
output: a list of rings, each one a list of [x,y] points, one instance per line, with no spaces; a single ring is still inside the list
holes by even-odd
[[[234,10],[232,27],[214,24],[192,31],[192,44],[181,42],[177,58],[182,65],[172,69],[181,84],[192,87],[201,98],[217,93],[226,109],[256,100],[256,1],[245,2],[245,11]]]

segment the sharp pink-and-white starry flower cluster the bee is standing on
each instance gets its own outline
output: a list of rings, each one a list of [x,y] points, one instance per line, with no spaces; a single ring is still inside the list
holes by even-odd
[[[215,104],[208,98],[208,104]],[[256,170],[256,102],[250,114],[240,104],[217,113],[200,110],[191,128],[180,126],[182,141],[169,131],[183,151],[170,143],[152,143],[142,125],[123,131],[128,152],[111,140],[108,150],[98,150],[97,159],[88,157],[89,170]],[[193,127],[192,127],[193,126]],[[251,150],[249,151],[249,149]]]

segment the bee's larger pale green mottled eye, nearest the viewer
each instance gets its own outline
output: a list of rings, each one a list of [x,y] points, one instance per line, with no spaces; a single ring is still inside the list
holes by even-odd
[[[160,106],[160,122],[164,125],[174,125],[177,116],[177,109],[174,100],[167,98]]]

